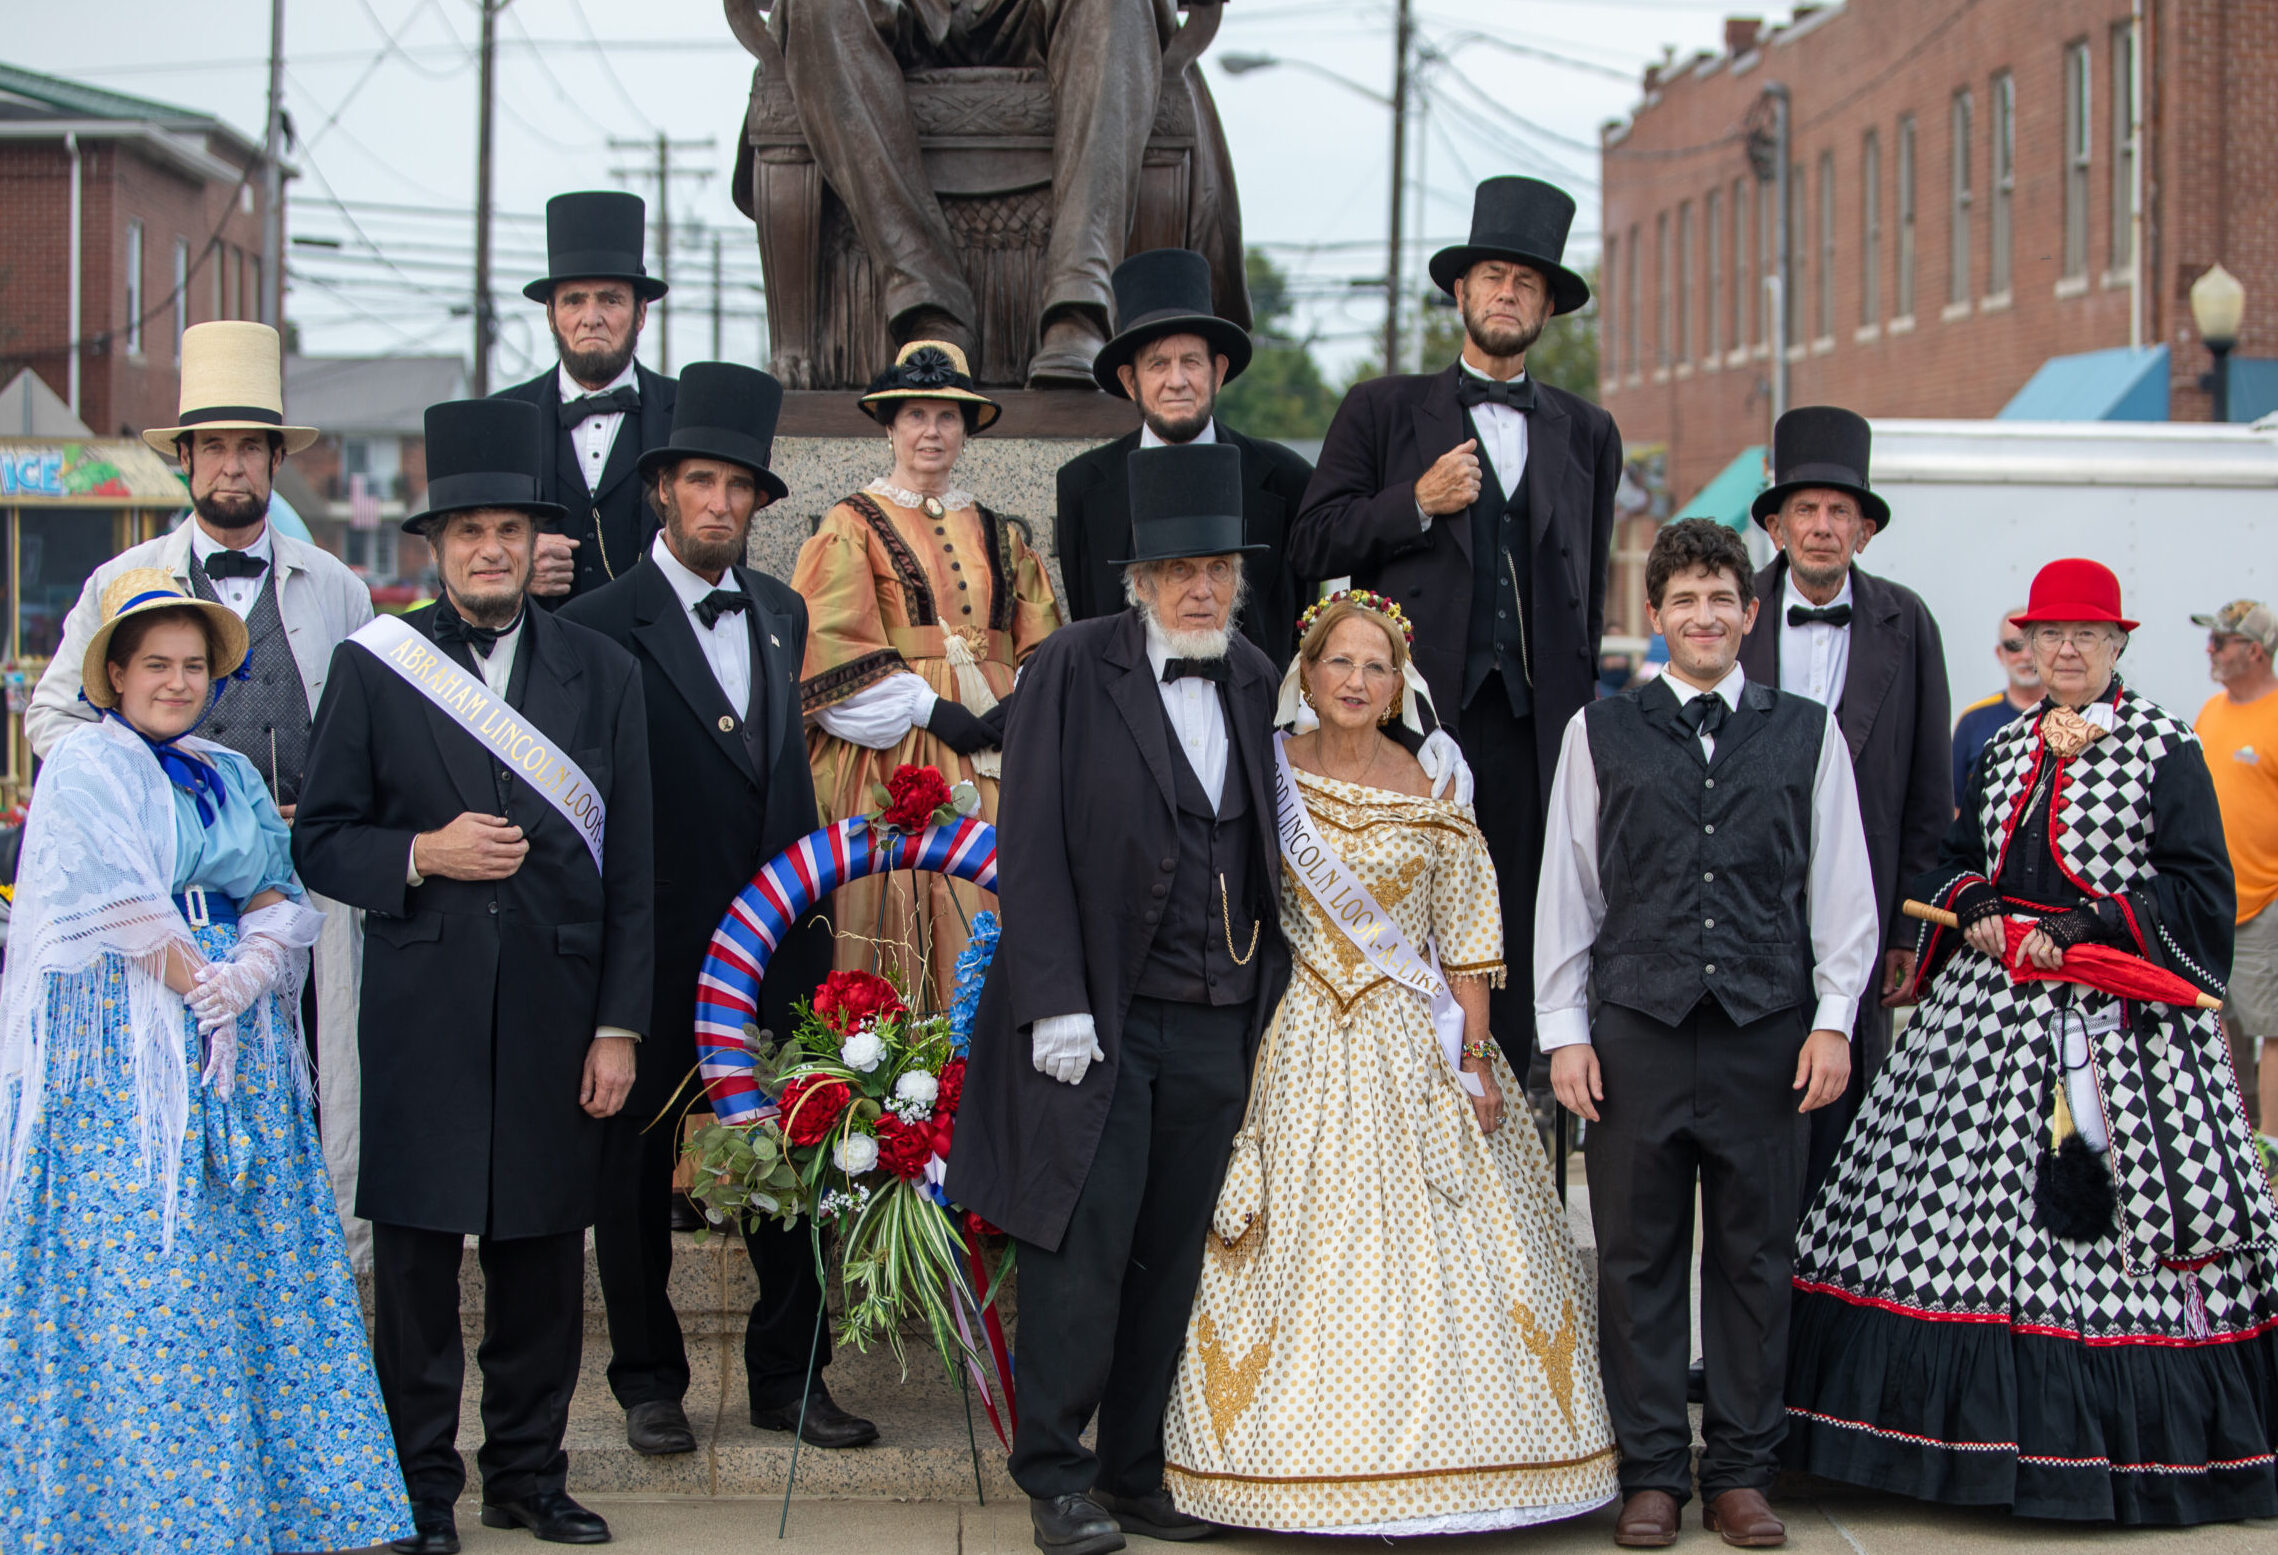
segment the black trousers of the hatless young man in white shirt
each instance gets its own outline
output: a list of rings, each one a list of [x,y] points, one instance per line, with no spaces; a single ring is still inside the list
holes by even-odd
[[[1674,1027],[1606,1004],[1606,1084],[1583,1138],[1597,1225],[1599,1364],[1622,1494],[1693,1494],[1693,1193],[1702,1202],[1702,1496],[1765,1489],[1786,1434],[1788,1295],[1804,1186],[1802,1009],[1736,1027],[1704,999]]]

